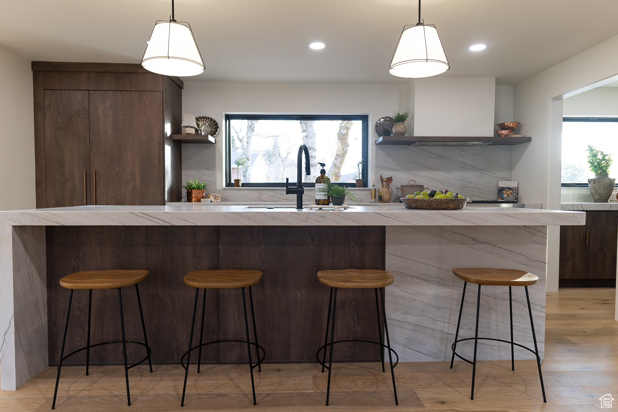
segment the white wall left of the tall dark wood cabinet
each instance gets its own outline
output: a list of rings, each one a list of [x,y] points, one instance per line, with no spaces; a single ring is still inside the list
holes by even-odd
[[[35,208],[30,61],[0,47],[0,210]]]

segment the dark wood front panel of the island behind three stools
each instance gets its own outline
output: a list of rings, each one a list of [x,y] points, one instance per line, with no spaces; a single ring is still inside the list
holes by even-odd
[[[320,270],[384,270],[384,226],[48,226],[49,364],[56,365],[62,340],[68,290],[58,281],[83,270],[146,269],[140,284],[153,362],[178,363],[187,350],[195,289],[182,278],[199,269],[257,269],[263,279],[253,286],[258,340],[266,361],[315,361],[324,344],[329,288]],[[142,340],[133,287],[122,290],[127,339]],[[76,291],[66,352],[86,342],[88,292]],[[339,292],[335,339],[378,340],[373,289]],[[201,305],[201,292],[200,292]],[[199,314],[198,310],[198,314]],[[199,315],[195,339],[199,339]],[[93,290],[91,342],[120,339],[115,290]],[[244,339],[240,290],[208,290],[204,341]],[[195,345],[196,343],[194,343]],[[90,353],[91,363],[122,363],[122,345],[105,345]],[[143,347],[129,345],[130,360]],[[242,344],[211,345],[206,362],[244,362]],[[378,360],[374,345],[341,344],[338,360]],[[194,358],[195,359],[195,358]],[[81,365],[85,352],[67,359]]]

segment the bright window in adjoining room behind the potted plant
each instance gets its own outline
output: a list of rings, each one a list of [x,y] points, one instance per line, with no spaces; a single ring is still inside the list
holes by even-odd
[[[595,174],[588,169],[588,145],[618,159],[618,118],[565,117],[562,119],[562,186],[588,186]],[[616,162],[609,175],[618,171]]]

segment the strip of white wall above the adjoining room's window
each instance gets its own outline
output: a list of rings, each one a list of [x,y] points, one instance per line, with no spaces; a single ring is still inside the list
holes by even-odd
[[[618,87],[598,87],[562,102],[565,117],[618,117]]]

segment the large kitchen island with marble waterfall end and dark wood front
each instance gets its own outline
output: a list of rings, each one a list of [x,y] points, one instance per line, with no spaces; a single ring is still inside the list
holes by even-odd
[[[328,310],[328,288],[315,273],[347,267],[394,274],[394,284],[386,289],[386,307],[391,344],[401,361],[450,360],[463,286],[452,268],[530,271],[540,278],[530,287],[530,299],[542,353],[546,226],[585,223],[582,212],[527,208],[426,211],[389,204],[297,211],[261,206],[83,206],[0,212],[2,389],[16,389],[57,362],[59,325],[64,324],[68,299],[58,279],[74,271],[104,268],[150,271],[140,289],[153,361],[159,363],[178,363],[186,350],[193,292],[182,277],[190,270],[214,268],[263,271],[254,294],[266,361],[315,360]],[[117,339],[114,295],[95,292],[92,341]],[[364,292],[370,290],[342,294],[339,339],[375,340],[375,309],[371,309],[375,303],[373,295]],[[126,295],[125,319],[129,318],[127,331],[131,331],[127,339],[140,340],[135,303],[132,294]],[[475,299],[475,291],[469,290],[460,335],[473,335]],[[480,333],[507,336],[507,289],[486,287],[481,301]],[[85,302],[83,296],[74,298],[69,350],[70,345],[83,345]],[[231,335],[243,333],[240,311],[234,306],[238,304],[234,290],[211,295],[206,310],[209,340],[234,339]],[[523,290],[515,288],[515,339],[530,346],[526,312]],[[119,361],[118,348],[105,350],[91,354],[91,362]],[[379,358],[375,348],[338,350],[336,359]],[[205,361],[243,359],[240,347],[209,351],[203,353]],[[461,352],[469,355],[472,346]],[[509,352],[507,345],[491,342],[479,347],[483,360],[507,358]],[[130,352],[129,356],[138,355]],[[515,356],[530,359],[529,353]],[[75,359],[79,363],[80,358]]]

